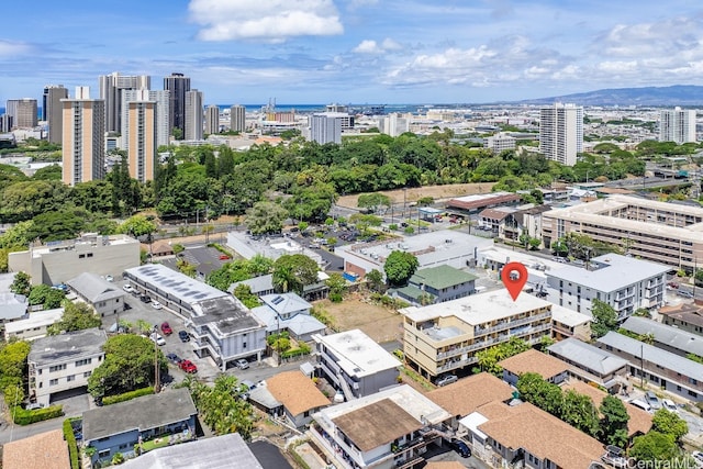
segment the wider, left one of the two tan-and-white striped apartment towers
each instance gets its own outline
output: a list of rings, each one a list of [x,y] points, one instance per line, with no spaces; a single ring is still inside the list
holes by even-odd
[[[76,96],[62,100],[63,180],[68,186],[102,179],[105,174],[105,102],[90,99],[90,88],[76,87]]]

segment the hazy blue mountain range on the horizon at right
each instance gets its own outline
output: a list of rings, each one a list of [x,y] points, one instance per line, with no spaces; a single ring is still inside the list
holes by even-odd
[[[517,101],[520,104],[570,102],[578,105],[696,107],[703,105],[703,87],[673,85],[670,87],[609,88],[583,93]]]

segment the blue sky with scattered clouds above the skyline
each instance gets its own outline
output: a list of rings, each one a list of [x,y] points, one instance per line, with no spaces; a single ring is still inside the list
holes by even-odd
[[[0,107],[172,71],[208,104],[480,103],[703,81],[690,0],[35,0],[2,5]],[[700,4],[698,4],[700,5]]]

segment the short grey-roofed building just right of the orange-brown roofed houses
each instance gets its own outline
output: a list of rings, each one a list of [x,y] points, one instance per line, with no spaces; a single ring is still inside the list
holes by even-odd
[[[547,347],[547,351],[570,365],[569,376],[572,378],[594,382],[614,392],[625,382],[626,359],[578,338],[569,337],[557,342]]]

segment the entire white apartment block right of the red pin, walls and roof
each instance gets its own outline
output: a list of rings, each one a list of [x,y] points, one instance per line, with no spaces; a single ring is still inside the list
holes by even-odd
[[[579,267],[563,265],[547,270],[547,300],[579,313],[591,315],[593,300],[611,305],[620,321],[643,308],[665,304],[669,266],[605,254]]]

